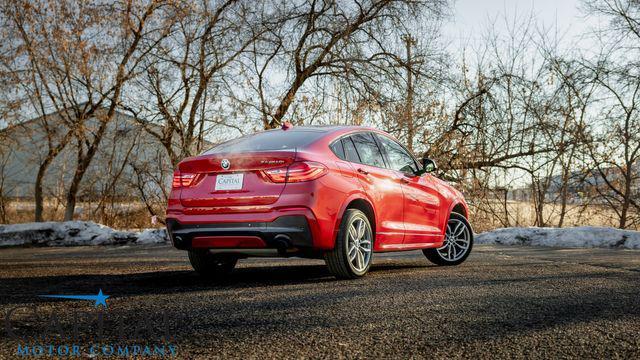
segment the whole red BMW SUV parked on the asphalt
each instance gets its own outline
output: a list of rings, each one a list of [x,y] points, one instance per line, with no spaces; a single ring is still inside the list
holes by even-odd
[[[468,207],[435,169],[379,130],[284,126],[180,162],[167,229],[208,276],[250,256],[324,258],[338,278],[364,275],[374,252],[457,265],[473,246]]]

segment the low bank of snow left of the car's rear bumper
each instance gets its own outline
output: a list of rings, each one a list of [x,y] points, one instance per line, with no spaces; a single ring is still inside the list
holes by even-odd
[[[91,221],[0,225],[0,247],[163,244],[168,241],[164,229],[120,231]]]

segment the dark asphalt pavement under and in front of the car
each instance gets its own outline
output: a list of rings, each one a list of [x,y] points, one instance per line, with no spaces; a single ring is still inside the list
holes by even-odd
[[[98,289],[106,310],[38,297]],[[171,344],[176,358],[639,358],[640,251],[476,246],[452,268],[376,254],[354,281],[322,261],[251,259],[216,284],[165,246],[3,249],[3,320],[12,309],[0,358],[38,342],[87,355],[100,328],[100,344]]]

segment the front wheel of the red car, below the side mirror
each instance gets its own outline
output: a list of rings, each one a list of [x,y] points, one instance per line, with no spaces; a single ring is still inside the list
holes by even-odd
[[[462,264],[473,248],[473,229],[464,215],[452,212],[447,221],[445,241],[440,248],[424,249],[422,253],[440,266]]]

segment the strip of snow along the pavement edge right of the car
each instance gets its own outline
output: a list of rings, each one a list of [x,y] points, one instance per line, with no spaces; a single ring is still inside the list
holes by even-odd
[[[640,249],[640,231],[608,227],[502,228],[476,234],[478,244]]]

